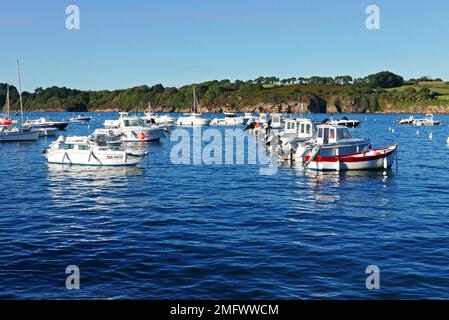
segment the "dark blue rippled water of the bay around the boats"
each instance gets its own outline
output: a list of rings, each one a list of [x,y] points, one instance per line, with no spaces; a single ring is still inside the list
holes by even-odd
[[[116,117],[93,116],[65,134]],[[168,137],[136,168],[62,167],[42,156],[52,139],[0,144],[0,297],[449,298],[449,117],[419,135],[353,117],[367,119],[354,135],[400,145],[397,169],[173,165]],[[80,290],[65,288],[68,265]]]

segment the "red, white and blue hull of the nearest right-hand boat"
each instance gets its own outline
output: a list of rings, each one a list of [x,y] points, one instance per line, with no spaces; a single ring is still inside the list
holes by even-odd
[[[304,161],[308,163],[307,168],[319,171],[340,170],[378,170],[390,168],[396,156],[398,146],[362,151],[358,153],[322,157],[310,161],[311,155],[306,155]]]

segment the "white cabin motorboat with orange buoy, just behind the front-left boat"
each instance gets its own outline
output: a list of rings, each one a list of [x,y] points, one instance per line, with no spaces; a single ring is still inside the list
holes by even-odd
[[[121,135],[123,142],[157,141],[164,134],[164,130],[157,125],[147,125],[142,118],[127,113],[120,113],[118,120],[109,120],[107,124],[105,122],[105,129]]]

